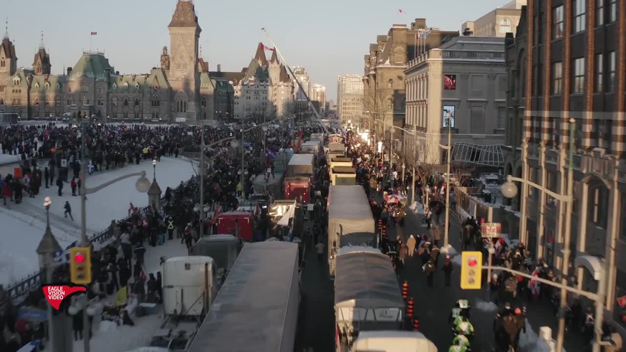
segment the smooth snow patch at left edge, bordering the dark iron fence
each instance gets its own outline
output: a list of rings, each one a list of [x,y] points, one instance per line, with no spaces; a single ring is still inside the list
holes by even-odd
[[[46,223],[29,215],[0,207],[0,284],[5,287],[39,271],[36,254]],[[51,226],[56,241],[66,247],[76,241],[63,230]]]

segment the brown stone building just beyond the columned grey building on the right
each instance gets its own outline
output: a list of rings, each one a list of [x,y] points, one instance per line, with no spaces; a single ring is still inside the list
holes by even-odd
[[[438,47],[443,41],[458,36],[458,31],[431,29],[422,45],[418,45],[418,33],[426,31],[426,19],[416,18],[411,28],[394,24],[386,35],[379,35],[375,44],[369,44],[364,56],[364,115],[367,127],[382,135],[383,125],[403,127],[406,110],[406,83],[404,70],[419,51]],[[339,102],[338,102],[339,105]],[[394,138],[401,138],[396,130]]]

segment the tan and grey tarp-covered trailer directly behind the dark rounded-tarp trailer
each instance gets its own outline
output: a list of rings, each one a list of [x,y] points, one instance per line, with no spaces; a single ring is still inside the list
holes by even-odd
[[[376,227],[362,186],[331,186],[328,196],[328,266],[335,274],[335,258],[345,246],[376,246]]]

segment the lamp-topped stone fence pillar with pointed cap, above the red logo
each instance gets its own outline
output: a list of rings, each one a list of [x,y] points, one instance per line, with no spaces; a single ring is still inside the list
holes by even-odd
[[[50,229],[50,218],[49,218],[49,210],[52,205],[52,200],[50,197],[46,197],[43,202],[43,206],[46,207],[46,232],[44,232],[41,241],[39,242],[39,246],[37,246],[37,257],[39,259],[39,267],[43,272],[46,273],[46,284],[52,284],[53,282],[53,264],[54,264],[54,253],[61,251],[61,246],[59,242],[56,241],[52,234],[52,230]],[[52,318],[52,306],[48,304],[48,344],[51,346],[49,350],[54,350],[54,324]]]

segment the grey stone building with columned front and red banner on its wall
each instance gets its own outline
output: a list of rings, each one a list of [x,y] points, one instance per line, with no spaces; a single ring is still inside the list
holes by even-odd
[[[404,136],[407,155],[415,147],[424,151],[424,162],[445,163],[439,145],[448,144],[448,128],[453,148],[504,142],[504,43],[504,38],[459,36],[409,61],[404,126],[416,131],[416,138]]]

